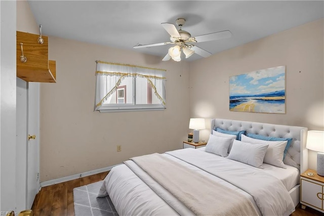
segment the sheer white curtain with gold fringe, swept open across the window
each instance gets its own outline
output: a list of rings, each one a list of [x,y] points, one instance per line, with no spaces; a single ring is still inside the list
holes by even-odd
[[[100,110],[103,103],[116,93],[121,81],[126,77],[147,79],[152,91],[163,106],[165,100],[166,70],[137,65],[97,61],[95,110]],[[135,92],[136,94],[136,92]],[[134,104],[136,105],[136,104]]]

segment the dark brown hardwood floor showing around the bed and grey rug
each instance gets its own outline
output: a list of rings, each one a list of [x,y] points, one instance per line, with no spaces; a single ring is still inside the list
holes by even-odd
[[[99,182],[106,177],[108,172],[109,171],[42,188],[41,191],[39,191],[36,195],[34,203],[31,207],[34,212],[34,216],[74,215],[73,188]],[[290,216],[323,215],[324,213],[309,207],[306,207],[306,209],[303,210],[300,206],[297,206],[296,211],[294,211]]]

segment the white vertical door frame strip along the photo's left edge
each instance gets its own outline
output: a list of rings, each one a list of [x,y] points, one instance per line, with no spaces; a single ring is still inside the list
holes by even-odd
[[[16,1],[0,1],[0,209],[16,208]]]

